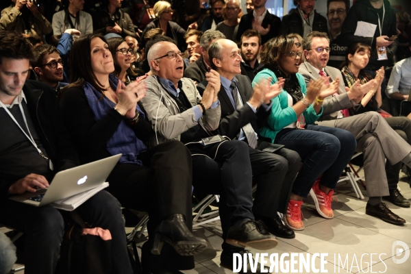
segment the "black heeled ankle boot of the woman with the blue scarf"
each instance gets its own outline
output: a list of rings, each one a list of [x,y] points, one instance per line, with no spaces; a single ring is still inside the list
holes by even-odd
[[[158,225],[154,231],[151,253],[160,255],[164,242],[169,243],[181,256],[193,256],[207,247],[206,240],[190,232],[182,214],[171,214]]]

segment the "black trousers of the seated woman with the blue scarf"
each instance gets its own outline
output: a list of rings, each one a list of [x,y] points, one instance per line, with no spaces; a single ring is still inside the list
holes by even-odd
[[[172,140],[139,155],[145,166],[117,164],[108,177],[108,191],[122,206],[149,212],[149,235],[170,214],[183,214],[192,229],[192,164],[190,151]],[[142,247],[142,267],[147,271],[194,268],[193,256],[179,256],[164,243],[160,255],[150,252],[152,237]],[[159,264],[158,262],[162,262]]]

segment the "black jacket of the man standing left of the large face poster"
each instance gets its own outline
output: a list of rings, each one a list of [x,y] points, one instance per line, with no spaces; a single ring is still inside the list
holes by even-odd
[[[312,22],[312,30],[317,32],[328,33],[327,19],[314,10],[314,21]],[[286,36],[287,34],[299,34],[303,37],[303,19],[298,8],[294,12],[284,15],[279,34]]]

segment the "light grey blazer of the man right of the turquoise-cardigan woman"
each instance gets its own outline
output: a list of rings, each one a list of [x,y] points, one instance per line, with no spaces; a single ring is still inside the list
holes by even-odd
[[[332,66],[325,66],[324,71],[329,77],[331,77],[333,81],[334,79],[336,79],[336,77],[340,77],[340,86],[338,87],[339,96],[335,97],[332,95],[325,98],[325,101],[323,102],[323,115],[321,115],[318,121],[337,119],[338,110],[353,108],[353,106],[357,105],[356,103],[354,103],[354,101],[350,101],[348,98],[347,92],[345,91],[345,84],[341,71],[338,71],[338,69],[333,68]],[[300,65],[298,72],[303,75],[304,79],[306,79],[307,88],[310,85],[311,79],[314,81],[321,77],[319,73],[316,73],[316,71],[314,70],[314,66],[312,66],[307,61],[303,62],[303,64]]]

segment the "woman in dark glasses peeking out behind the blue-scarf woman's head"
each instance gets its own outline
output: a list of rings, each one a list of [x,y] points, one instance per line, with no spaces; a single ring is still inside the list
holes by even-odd
[[[114,37],[107,40],[108,49],[112,53],[114,62],[114,75],[119,77],[121,82],[128,85],[138,76],[131,69],[133,49],[123,38]]]

